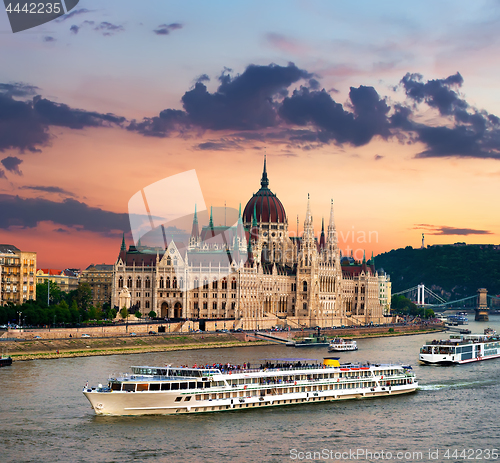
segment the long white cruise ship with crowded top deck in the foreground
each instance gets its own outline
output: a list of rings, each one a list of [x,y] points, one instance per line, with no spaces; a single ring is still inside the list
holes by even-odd
[[[410,366],[285,361],[259,368],[133,366],[83,388],[97,415],[170,415],[399,395],[418,382]]]

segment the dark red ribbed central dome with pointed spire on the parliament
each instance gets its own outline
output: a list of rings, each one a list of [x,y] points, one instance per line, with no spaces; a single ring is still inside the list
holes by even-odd
[[[257,216],[258,223],[284,223],[286,221],[285,208],[277,196],[269,189],[269,180],[264,158],[264,171],[260,180],[260,190],[248,201],[243,211],[243,222],[251,224],[253,213]]]

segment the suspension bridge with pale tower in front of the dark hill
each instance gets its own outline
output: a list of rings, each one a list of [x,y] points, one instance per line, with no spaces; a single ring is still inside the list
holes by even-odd
[[[446,301],[442,296],[427,288],[424,284],[414,286],[393,293],[393,296],[404,295],[419,307],[431,308],[436,311],[444,311],[452,308],[474,309],[475,319],[478,321],[487,321],[489,308],[494,305],[500,305],[500,297],[488,295],[488,290],[480,288],[473,296],[463,297],[454,301]]]

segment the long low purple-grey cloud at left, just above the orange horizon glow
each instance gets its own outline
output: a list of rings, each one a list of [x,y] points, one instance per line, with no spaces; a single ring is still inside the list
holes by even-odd
[[[103,235],[110,235],[113,230],[130,229],[128,214],[90,207],[69,198],[63,202],[55,202],[0,194],[0,210],[0,229],[34,228],[43,221]]]

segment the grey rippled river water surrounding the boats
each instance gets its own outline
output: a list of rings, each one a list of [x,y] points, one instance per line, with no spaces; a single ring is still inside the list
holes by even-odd
[[[500,332],[500,316],[471,321],[468,328],[482,333],[487,326]],[[500,452],[500,359],[418,365],[421,345],[439,336],[447,337],[365,339],[358,341],[357,352],[340,354],[341,361],[413,365],[420,383],[414,394],[189,416],[98,417],[81,390],[86,381],[106,383],[110,373],[126,372],[131,365],[257,365],[266,358],[321,359],[326,348],[273,345],[15,362],[0,369],[0,459],[500,461],[493,451]]]

